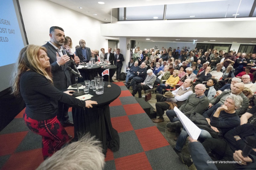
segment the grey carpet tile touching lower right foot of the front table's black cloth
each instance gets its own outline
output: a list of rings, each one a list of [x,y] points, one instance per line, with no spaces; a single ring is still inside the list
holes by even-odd
[[[143,152],[140,141],[134,130],[118,133],[118,135],[120,137],[120,149],[114,152],[115,159]]]

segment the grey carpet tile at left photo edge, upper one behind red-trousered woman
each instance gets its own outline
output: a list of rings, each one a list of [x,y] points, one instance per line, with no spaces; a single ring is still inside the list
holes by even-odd
[[[29,130],[23,118],[15,118],[1,132],[0,135]]]

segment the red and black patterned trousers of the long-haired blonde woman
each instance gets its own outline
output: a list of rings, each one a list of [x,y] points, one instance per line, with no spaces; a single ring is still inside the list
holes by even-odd
[[[52,119],[37,121],[23,115],[24,121],[32,132],[42,136],[42,153],[44,159],[52,156],[60,150],[61,146],[68,141],[68,133],[55,116]]]

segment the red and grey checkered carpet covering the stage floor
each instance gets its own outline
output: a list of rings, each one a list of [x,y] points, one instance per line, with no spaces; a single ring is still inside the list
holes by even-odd
[[[120,137],[120,150],[108,149],[104,169],[187,169],[124,83],[115,84],[122,92],[109,107],[112,126]],[[41,136],[29,131],[22,118],[24,111],[0,132],[0,169],[32,170],[43,162]],[[65,129],[74,136],[74,127]]]

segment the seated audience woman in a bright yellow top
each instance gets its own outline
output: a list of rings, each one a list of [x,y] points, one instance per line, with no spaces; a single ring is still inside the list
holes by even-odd
[[[172,89],[175,87],[175,85],[180,81],[179,76],[177,76],[178,70],[173,71],[173,75],[171,75],[168,80],[165,82],[165,84],[160,84],[157,88],[156,91],[159,94],[163,94],[163,89]]]

